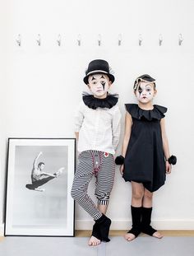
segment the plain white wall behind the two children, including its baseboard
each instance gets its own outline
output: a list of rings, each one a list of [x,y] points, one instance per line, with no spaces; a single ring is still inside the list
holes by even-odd
[[[134,79],[142,73],[156,78],[155,104],[166,115],[171,152],[178,156],[172,175],[155,193],[153,222],[159,229],[194,229],[193,200],[193,25],[192,0],[7,0],[0,51],[1,70],[1,208],[6,174],[7,137],[74,137],[73,112],[81,100],[87,64],[104,58],[113,68],[112,91],[124,103],[135,102]],[[5,7],[5,3],[2,3]],[[2,12],[2,11],[1,11]],[[4,22],[6,21],[7,22]],[[178,34],[182,33],[182,46]],[[16,37],[21,34],[21,47]],[[41,35],[41,46],[36,44]],[[56,40],[62,35],[62,45]],[[77,35],[81,34],[81,46]],[[98,35],[102,44],[97,44]],[[118,35],[122,44],[118,46]],[[142,35],[142,45],[138,36]],[[159,34],[164,41],[159,46]],[[7,66],[6,66],[7,63]],[[7,69],[5,68],[7,67]],[[6,70],[5,70],[6,69]],[[124,120],[122,118],[122,124]],[[123,129],[122,129],[123,134]],[[122,141],[122,140],[121,140]],[[118,148],[120,153],[121,144]],[[90,185],[90,192],[94,181]],[[112,229],[127,229],[131,185],[115,177],[109,216]],[[76,228],[90,228],[90,216],[76,206]]]

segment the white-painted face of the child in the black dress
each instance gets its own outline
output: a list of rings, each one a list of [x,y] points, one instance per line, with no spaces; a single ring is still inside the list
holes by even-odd
[[[154,85],[149,81],[141,81],[136,88],[136,98],[141,103],[148,103],[155,95]]]

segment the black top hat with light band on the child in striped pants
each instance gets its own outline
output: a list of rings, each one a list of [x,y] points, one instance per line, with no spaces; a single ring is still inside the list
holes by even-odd
[[[86,85],[88,84],[88,77],[90,75],[95,75],[95,74],[107,75],[110,81],[112,82],[114,81],[114,76],[110,74],[109,63],[104,59],[95,59],[89,63],[88,68],[85,72],[85,77],[84,77],[84,82]]]

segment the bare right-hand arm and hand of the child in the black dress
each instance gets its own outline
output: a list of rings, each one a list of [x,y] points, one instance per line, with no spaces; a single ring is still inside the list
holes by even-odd
[[[166,135],[164,119],[160,120],[160,126],[161,126],[161,132],[162,132],[162,142],[163,142],[164,156],[165,156],[165,159],[169,159],[169,157],[170,157],[169,142],[168,142],[168,138],[167,138],[167,135]],[[166,161],[166,173],[170,174],[171,169],[172,169],[172,166],[169,164],[168,161]]]

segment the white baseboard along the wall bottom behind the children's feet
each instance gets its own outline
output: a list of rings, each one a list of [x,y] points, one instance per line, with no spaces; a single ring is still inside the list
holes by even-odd
[[[164,220],[151,222],[158,230],[194,230],[194,220]],[[76,230],[91,230],[94,225],[92,220],[76,220]],[[111,230],[128,230],[132,221],[112,220]]]

